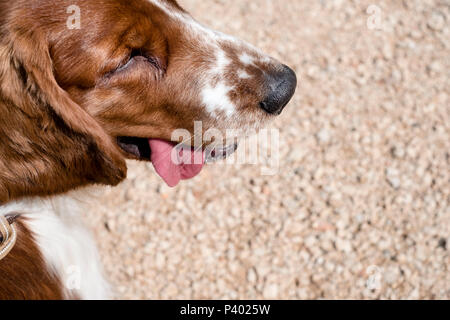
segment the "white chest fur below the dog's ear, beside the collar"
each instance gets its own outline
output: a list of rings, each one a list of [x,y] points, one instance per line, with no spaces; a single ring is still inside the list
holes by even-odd
[[[83,226],[80,192],[52,197],[33,198],[0,206],[0,215],[20,212],[33,232],[37,245],[69,296],[81,299],[110,298],[95,242]]]

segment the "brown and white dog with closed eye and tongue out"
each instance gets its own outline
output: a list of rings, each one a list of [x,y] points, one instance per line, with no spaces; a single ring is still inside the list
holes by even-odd
[[[158,159],[176,185],[201,164],[164,160],[174,130],[193,132],[195,121],[259,129],[296,83],[291,69],[205,28],[175,0],[0,0],[0,216],[20,214],[0,261],[0,299],[109,298],[67,193],[117,185],[126,159]],[[70,266],[83,275],[75,290],[65,286]]]

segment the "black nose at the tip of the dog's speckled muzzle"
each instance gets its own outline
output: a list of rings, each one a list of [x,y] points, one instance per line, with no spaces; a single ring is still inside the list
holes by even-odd
[[[279,115],[289,103],[297,87],[297,76],[288,66],[266,75],[266,98],[259,103],[269,114]]]

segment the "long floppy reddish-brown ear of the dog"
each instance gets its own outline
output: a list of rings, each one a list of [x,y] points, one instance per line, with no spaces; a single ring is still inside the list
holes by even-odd
[[[0,40],[0,112],[0,203],[126,177],[112,138],[56,82],[38,29]]]

